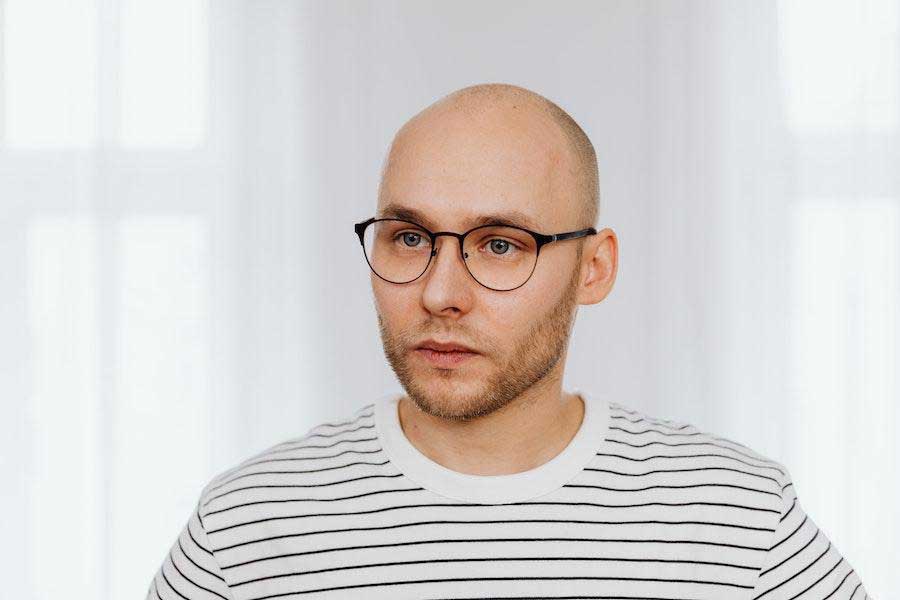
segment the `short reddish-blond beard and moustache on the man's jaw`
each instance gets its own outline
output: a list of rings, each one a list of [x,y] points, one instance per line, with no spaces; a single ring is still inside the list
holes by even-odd
[[[581,248],[578,252],[581,256]],[[580,264],[580,260],[575,263]],[[541,382],[557,365],[566,351],[572,324],[577,314],[576,294],[579,269],[574,269],[562,297],[540,319],[532,321],[528,330],[515,340],[511,352],[490,345],[472,345],[480,356],[454,369],[411,365],[410,351],[414,344],[426,337],[422,333],[392,332],[378,313],[378,329],[388,363],[391,365],[406,395],[423,412],[452,421],[470,421],[489,415],[518,398]],[[377,312],[377,311],[376,311]],[[423,329],[423,331],[425,331]],[[452,335],[468,341],[467,336]],[[500,361],[500,366],[486,377],[466,377],[466,369],[475,361]],[[422,369],[427,370],[423,374]]]

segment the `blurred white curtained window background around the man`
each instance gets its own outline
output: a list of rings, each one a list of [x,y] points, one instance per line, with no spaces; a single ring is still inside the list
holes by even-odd
[[[3,596],[143,597],[214,475],[400,390],[352,225],[407,118],[500,81],[585,129],[619,238],[564,387],[782,462],[900,597],[898,31],[890,0],[0,0]]]

